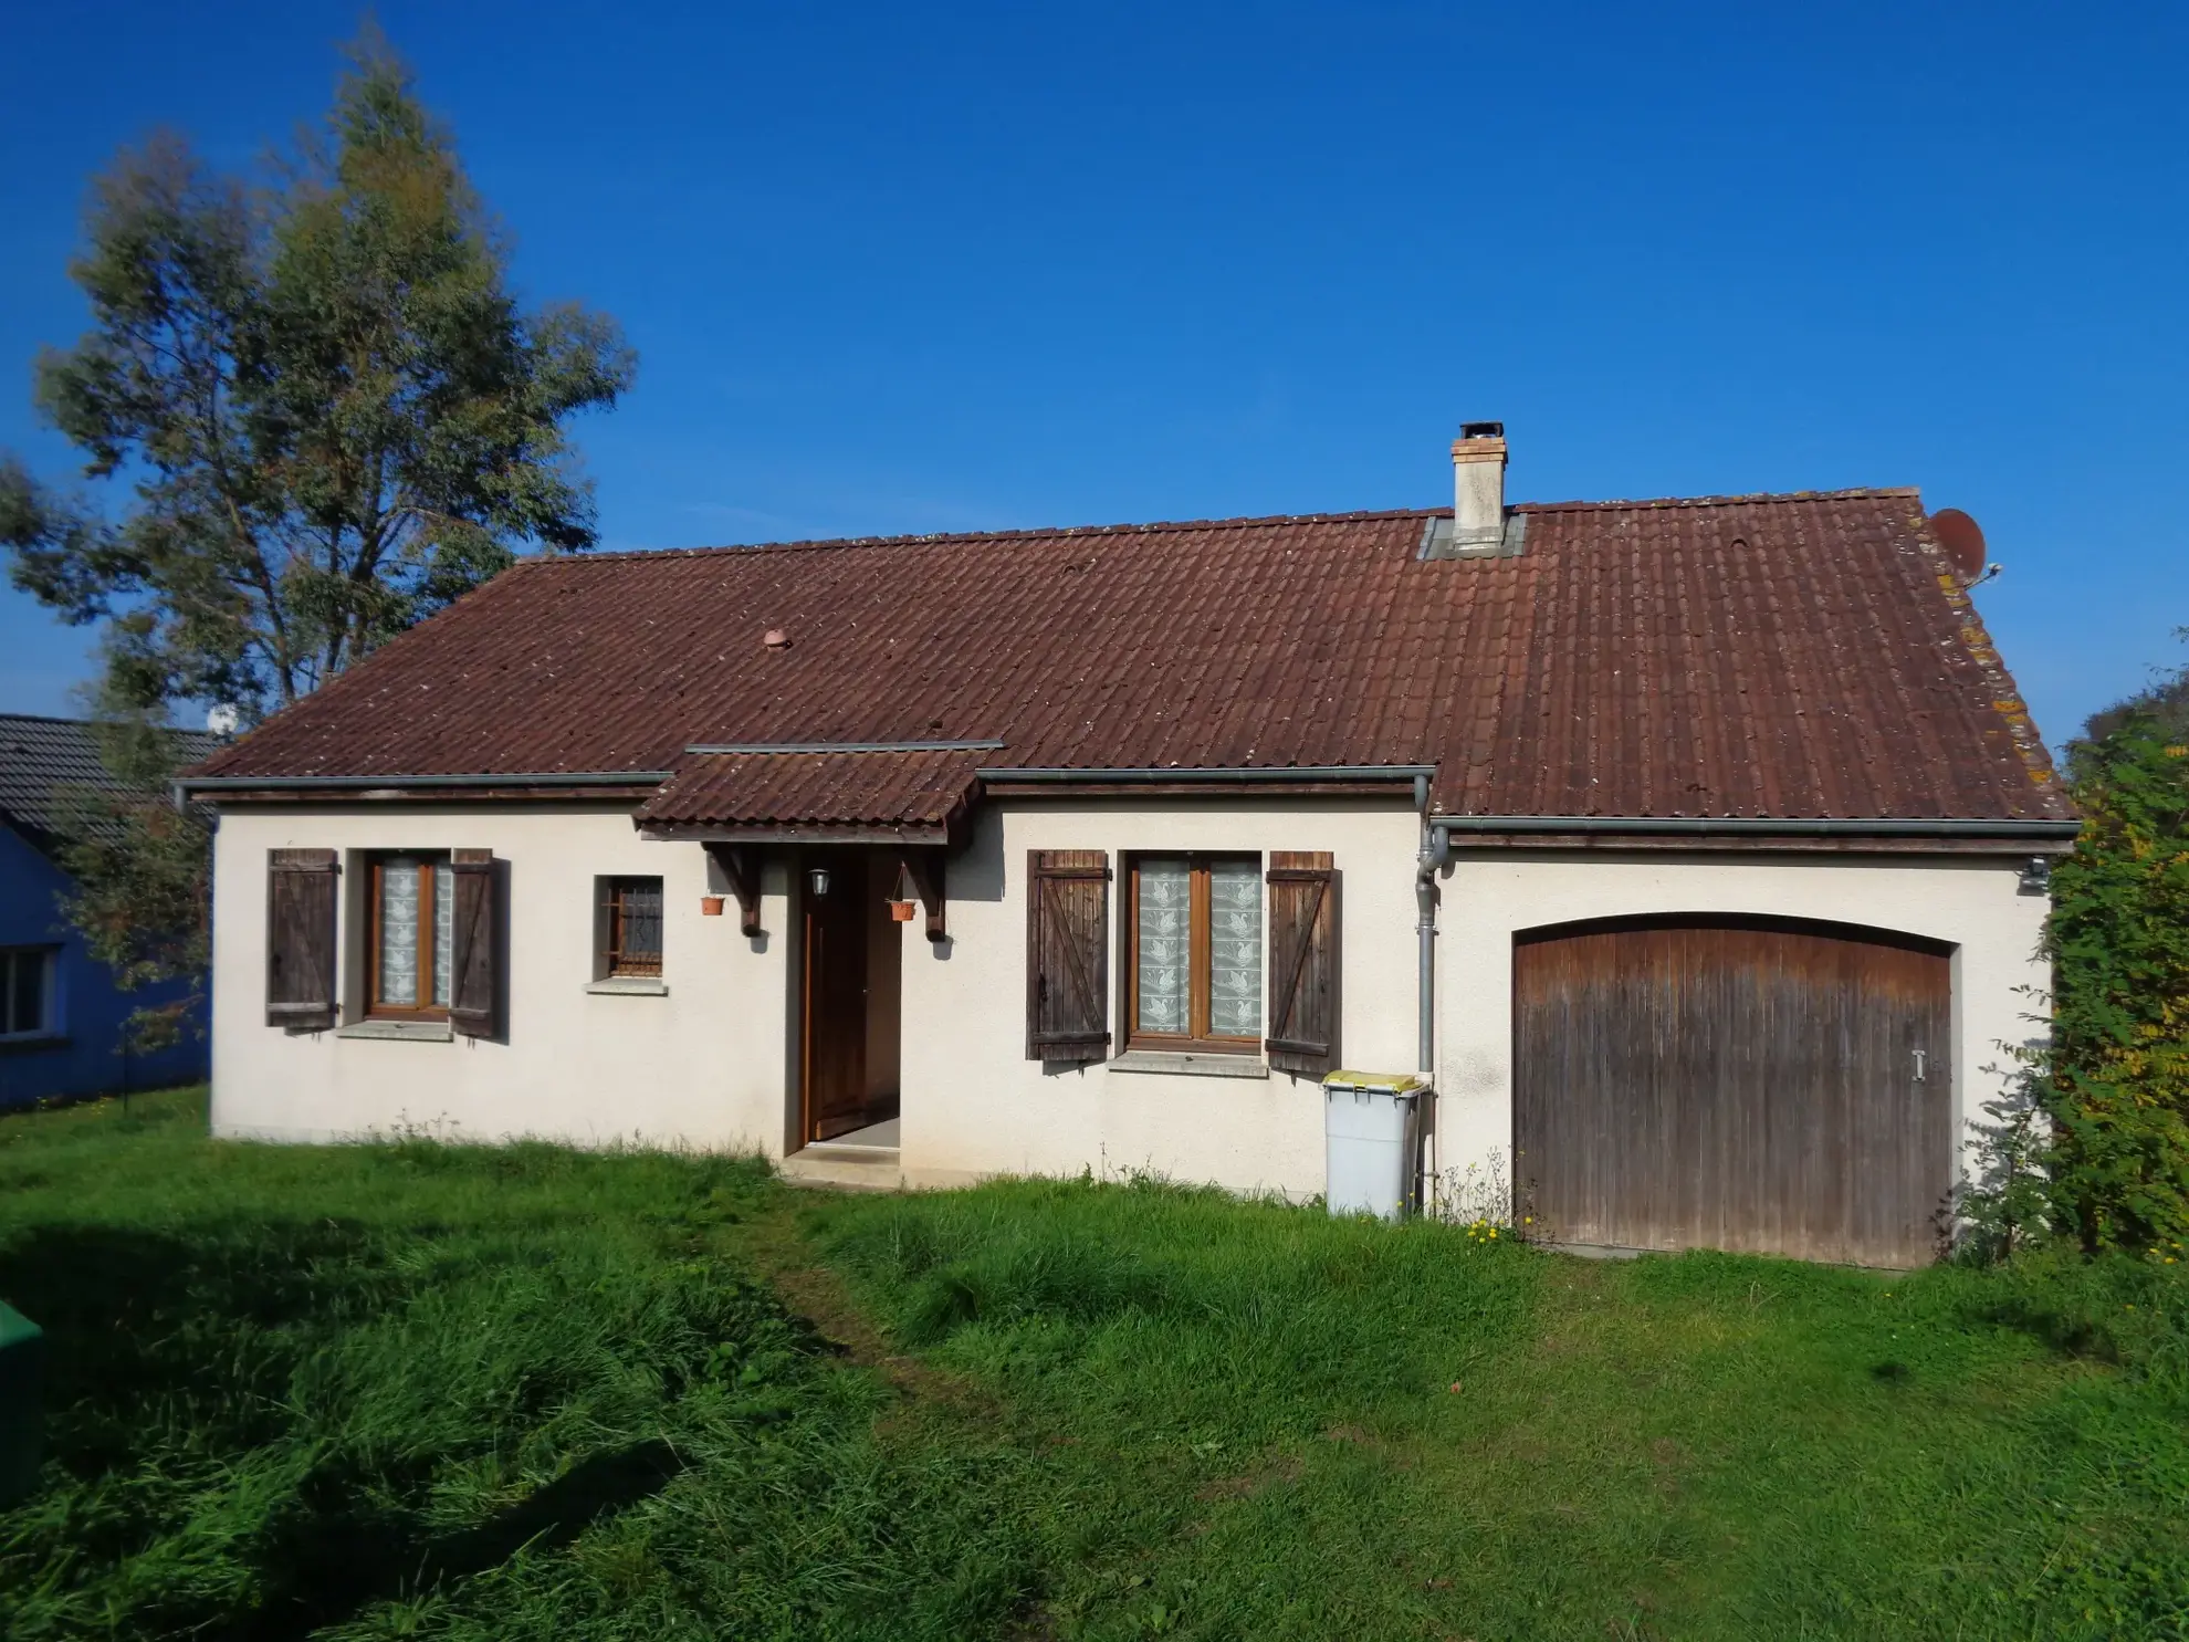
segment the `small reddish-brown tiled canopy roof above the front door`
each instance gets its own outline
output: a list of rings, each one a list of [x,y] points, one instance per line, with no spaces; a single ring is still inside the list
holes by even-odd
[[[687,753],[639,810],[650,825],[742,825],[784,836],[860,828],[941,839],[992,751]]]

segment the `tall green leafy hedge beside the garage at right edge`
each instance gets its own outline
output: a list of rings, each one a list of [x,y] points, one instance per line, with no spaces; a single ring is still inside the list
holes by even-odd
[[[2145,1250],[2189,1237],[2189,747],[2132,712],[2075,773],[2084,830],[2045,935],[2045,1191],[2086,1250]]]

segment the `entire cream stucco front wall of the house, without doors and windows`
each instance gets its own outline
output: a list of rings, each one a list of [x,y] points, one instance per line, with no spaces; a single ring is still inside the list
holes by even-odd
[[[1027,852],[1329,849],[1342,871],[1342,1040],[1348,1066],[1416,1055],[1414,849],[1405,801],[1070,801],[996,806],[950,858],[950,939],[878,924],[902,959],[902,1167],[915,1184],[987,1173],[1156,1169],[1241,1191],[1322,1191],[1322,1099],[1307,1079],[1195,1077],[1024,1060]],[[352,884],[366,849],[490,847],[508,863],[508,1020],[501,1042],[392,1042],[265,1025],[267,849],[346,863],[341,992],[355,1011]],[[1924,935],[1955,946],[1955,1097],[1981,1114],[1996,1044],[2023,1040],[2042,985],[2042,895],[1999,856],[1701,856],[1467,852],[1440,880],[1438,1114],[1432,1167],[1508,1184],[1513,935],[1635,913],[1764,913]],[[232,808],[217,836],[212,1119],[219,1134],[337,1138],[422,1128],[453,1138],[580,1145],[795,1145],[792,920],[781,858],[764,878],[766,935],[736,902],[700,915],[705,852],[648,843],[604,808]],[[668,996],[598,996],[593,882],[663,878]],[[1121,915],[1110,884],[1112,937]],[[887,968],[887,965],[878,965]],[[1112,946],[1112,983],[1116,957]],[[1112,990],[1112,1029],[1119,1033]],[[1966,1132],[1966,1123],[1964,1123]]]

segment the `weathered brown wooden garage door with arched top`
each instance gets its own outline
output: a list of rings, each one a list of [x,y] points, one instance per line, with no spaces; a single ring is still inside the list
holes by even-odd
[[[1935,1254],[1939,946],[1843,924],[1570,924],[1513,950],[1515,1184],[1561,1244]]]

